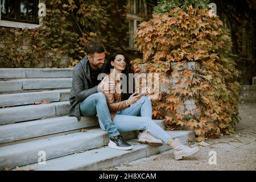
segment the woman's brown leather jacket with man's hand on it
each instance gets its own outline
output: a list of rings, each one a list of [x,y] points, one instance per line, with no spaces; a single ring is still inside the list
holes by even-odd
[[[115,73],[110,73],[104,78],[105,82],[108,81],[115,81],[115,90],[110,91],[109,93],[104,93],[106,96],[106,101],[109,107],[109,111],[111,114],[112,121],[115,117],[115,113],[118,110],[126,109],[126,100],[121,101],[121,79],[120,77]]]

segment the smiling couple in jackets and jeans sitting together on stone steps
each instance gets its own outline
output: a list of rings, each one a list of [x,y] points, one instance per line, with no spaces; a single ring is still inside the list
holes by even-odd
[[[100,73],[109,75],[101,81],[97,79]],[[86,56],[73,69],[69,116],[75,116],[80,121],[81,116],[97,114],[101,129],[109,134],[110,148],[131,150],[132,146],[123,140],[120,133],[141,130],[139,143],[152,146],[167,144],[173,148],[176,160],[199,151],[198,147],[184,146],[178,138],[172,139],[152,121],[151,101],[147,92],[130,96],[121,93],[118,84],[122,73],[131,73],[129,61],[123,53],[114,53],[108,62],[104,48],[99,43],[90,43],[86,47]]]

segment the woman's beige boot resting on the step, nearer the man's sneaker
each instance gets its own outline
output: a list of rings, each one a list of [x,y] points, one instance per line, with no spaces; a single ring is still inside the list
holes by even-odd
[[[151,146],[162,146],[163,141],[155,138],[149,132],[144,130],[142,133],[138,135],[138,142],[142,144],[150,144]]]

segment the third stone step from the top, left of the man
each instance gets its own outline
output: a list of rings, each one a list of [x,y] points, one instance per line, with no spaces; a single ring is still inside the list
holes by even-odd
[[[28,105],[40,101],[68,101],[70,89],[1,94],[0,107]]]

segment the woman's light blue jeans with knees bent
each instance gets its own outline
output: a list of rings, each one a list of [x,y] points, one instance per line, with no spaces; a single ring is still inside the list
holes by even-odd
[[[120,133],[125,131],[146,130],[155,138],[158,138],[167,144],[170,135],[166,133],[151,119],[152,106],[148,97],[143,96],[130,107],[117,111],[114,117],[114,124]],[[99,119],[101,129],[105,130],[101,119]]]

